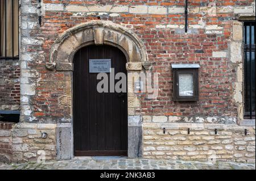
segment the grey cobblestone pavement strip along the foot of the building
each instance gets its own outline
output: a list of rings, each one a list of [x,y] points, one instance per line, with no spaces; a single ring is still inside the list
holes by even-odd
[[[188,162],[171,161],[156,159],[129,159],[126,157],[80,157],[70,161],[54,161],[45,163],[27,162],[20,164],[0,164],[0,170],[76,170],[76,169],[104,169],[104,170],[142,170],[142,169],[180,169],[180,170],[212,170],[212,169],[237,169],[255,170],[255,163],[236,163],[236,162]]]

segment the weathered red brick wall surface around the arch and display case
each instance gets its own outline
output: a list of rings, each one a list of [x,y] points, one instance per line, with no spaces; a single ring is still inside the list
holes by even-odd
[[[31,1],[35,5],[36,1]],[[67,3],[67,5],[150,5],[184,7],[184,1],[43,1],[48,3]],[[208,6],[212,1],[189,1],[189,8]],[[249,1],[214,1],[216,6],[250,6]],[[188,24],[198,24],[202,19],[206,26],[217,25],[222,32],[207,34],[204,28],[197,28],[195,32],[183,33],[174,28],[158,28],[157,25],[183,25],[183,14],[129,14],[118,13],[119,16],[105,15],[74,15],[73,12],[46,11],[42,18],[42,26],[26,30],[30,38],[43,41],[43,45],[24,45],[27,52],[44,52],[42,60],[34,60],[28,68],[38,71],[34,80],[40,79],[36,86],[36,95],[31,98],[32,113],[44,121],[44,117],[69,116],[70,111],[58,106],[58,96],[64,95],[64,89],[56,82],[64,82],[64,73],[46,70],[49,60],[49,50],[56,38],[77,24],[90,20],[110,20],[130,28],[144,42],[148,60],[153,62],[153,72],[160,73],[158,100],[147,100],[142,95],[142,110],[145,115],[177,115],[177,116],[237,116],[237,106],[233,100],[232,83],[236,81],[236,66],[227,57],[213,57],[213,52],[228,52],[228,43],[232,36],[233,12],[217,13],[209,16],[189,13]],[[37,14],[26,17],[30,21],[38,22]],[[24,18],[24,19],[26,19]],[[199,71],[199,101],[178,103],[173,101],[171,64],[194,63],[200,64]]]

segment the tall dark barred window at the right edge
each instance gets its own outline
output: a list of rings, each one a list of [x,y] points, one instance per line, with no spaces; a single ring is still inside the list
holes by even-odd
[[[244,31],[244,100],[245,119],[255,119],[255,22],[245,22]]]

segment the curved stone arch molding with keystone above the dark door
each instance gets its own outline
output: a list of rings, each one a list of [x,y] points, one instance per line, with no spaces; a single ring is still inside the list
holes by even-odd
[[[146,47],[134,32],[109,21],[91,21],[79,24],[65,31],[51,47],[46,68],[60,71],[73,70],[73,56],[86,45],[112,45],[125,54],[127,62],[137,63],[135,69],[151,68]],[[129,65],[128,65],[129,66]]]

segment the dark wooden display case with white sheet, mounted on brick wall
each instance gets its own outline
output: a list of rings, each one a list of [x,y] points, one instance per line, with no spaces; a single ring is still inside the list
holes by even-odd
[[[174,101],[199,99],[199,64],[172,64],[174,76]]]

